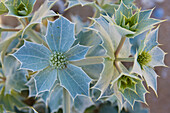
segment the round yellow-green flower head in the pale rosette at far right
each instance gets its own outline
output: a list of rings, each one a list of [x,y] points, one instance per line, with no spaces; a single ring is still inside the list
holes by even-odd
[[[146,52],[146,51],[143,51],[138,56],[138,59],[137,59],[141,67],[146,66],[151,60],[152,60],[152,56],[149,54],[149,52]]]

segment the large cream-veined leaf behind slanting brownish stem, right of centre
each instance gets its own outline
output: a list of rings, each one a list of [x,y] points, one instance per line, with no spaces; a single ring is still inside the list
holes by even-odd
[[[119,45],[121,40],[121,34],[116,30],[115,25],[110,21],[106,21],[105,16],[101,16],[98,19],[95,19],[96,22],[91,26],[92,30],[96,29],[96,31],[101,34],[101,37],[104,41],[103,46],[106,49],[106,54],[109,55],[112,59],[114,59],[114,53],[116,48]],[[109,17],[110,18],[110,17]],[[127,50],[127,48],[129,50]],[[126,39],[125,44],[123,46],[122,51],[120,51],[120,56],[129,57],[130,55],[130,42]]]

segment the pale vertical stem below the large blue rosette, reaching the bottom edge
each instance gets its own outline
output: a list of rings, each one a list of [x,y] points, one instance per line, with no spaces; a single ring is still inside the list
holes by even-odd
[[[63,88],[63,113],[70,113],[70,94]]]

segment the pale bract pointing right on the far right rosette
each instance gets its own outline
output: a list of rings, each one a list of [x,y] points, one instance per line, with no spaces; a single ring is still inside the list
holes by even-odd
[[[149,66],[166,66],[164,63],[166,53],[161,48],[154,47],[149,53],[152,56],[152,60],[148,64]]]

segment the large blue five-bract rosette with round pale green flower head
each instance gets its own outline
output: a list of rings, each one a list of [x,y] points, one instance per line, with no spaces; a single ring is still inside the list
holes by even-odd
[[[84,59],[89,49],[79,44],[72,47],[75,41],[74,26],[60,16],[54,22],[48,22],[46,42],[49,49],[44,45],[25,41],[14,53],[21,62],[21,68],[39,71],[33,77],[37,94],[49,91],[58,79],[73,98],[78,94],[89,94],[91,79],[80,67],[69,62]]]

